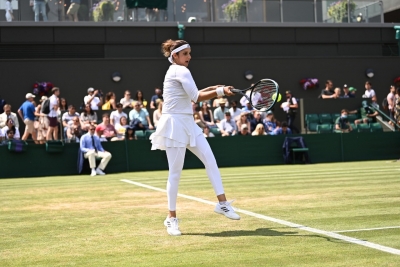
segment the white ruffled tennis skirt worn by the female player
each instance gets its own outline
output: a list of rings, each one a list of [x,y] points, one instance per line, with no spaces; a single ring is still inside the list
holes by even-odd
[[[151,150],[166,147],[196,146],[196,137],[203,132],[189,114],[162,114],[156,131],[150,136]]]

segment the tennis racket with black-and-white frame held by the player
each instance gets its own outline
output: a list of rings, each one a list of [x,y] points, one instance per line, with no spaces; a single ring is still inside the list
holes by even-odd
[[[246,94],[248,90],[250,94]],[[279,85],[274,80],[262,79],[247,89],[231,89],[231,92],[243,95],[254,109],[266,112],[271,110],[278,100]]]

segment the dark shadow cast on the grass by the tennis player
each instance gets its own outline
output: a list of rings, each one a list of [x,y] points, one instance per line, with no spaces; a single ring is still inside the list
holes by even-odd
[[[290,228],[288,228],[290,229]],[[293,237],[317,237],[325,239],[329,242],[341,242],[336,238],[329,238],[321,235],[299,235],[298,232],[294,231],[275,231],[272,228],[258,228],[256,230],[234,230],[234,231],[223,231],[220,233],[182,233],[182,235],[202,235],[211,237],[234,237],[234,236],[293,236]]]

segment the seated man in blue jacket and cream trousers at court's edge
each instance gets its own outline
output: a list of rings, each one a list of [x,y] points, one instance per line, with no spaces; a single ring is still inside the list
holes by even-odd
[[[89,132],[82,135],[80,140],[80,150],[86,159],[89,159],[89,165],[92,169],[91,176],[105,175],[104,170],[111,159],[111,153],[104,150],[100,138],[95,135],[96,126],[90,125]],[[96,169],[96,157],[102,158]]]

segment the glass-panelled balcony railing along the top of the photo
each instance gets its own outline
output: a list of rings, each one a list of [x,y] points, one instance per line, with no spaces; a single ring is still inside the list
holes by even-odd
[[[4,0],[0,9],[5,9]],[[108,9],[99,15],[102,3]],[[29,1],[12,0],[14,21],[34,21]],[[64,0],[46,2],[48,21],[72,21]],[[108,13],[107,13],[108,12]],[[107,13],[107,14],[105,14]],[[125,0],[82,1],[78,22],[309,22],[383,23],[383,1],[376,0],[168,0],[166,10],[128,9]],[[43,20],[39,14],[39,21]],[[12,22],[10,22],[12,23]]]

